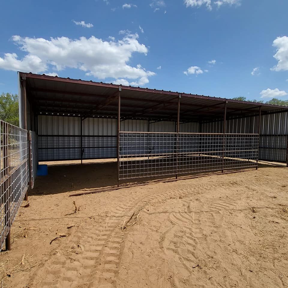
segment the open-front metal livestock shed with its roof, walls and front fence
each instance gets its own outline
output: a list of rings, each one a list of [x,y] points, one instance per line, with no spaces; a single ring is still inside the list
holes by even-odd
[[[288,163],[288,107],[18,75],[20,127],[35,131],[37,163],[114,159],[118,184]]]

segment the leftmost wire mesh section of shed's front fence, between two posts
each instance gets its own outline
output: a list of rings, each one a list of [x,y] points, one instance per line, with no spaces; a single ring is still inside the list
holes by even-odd
[[[119,179],[176,174],[177,133],[120,132]]]

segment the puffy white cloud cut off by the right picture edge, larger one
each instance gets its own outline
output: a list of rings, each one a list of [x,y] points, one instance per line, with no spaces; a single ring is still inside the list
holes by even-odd
[[[272,46],[276,47],[277,52],[273,57],[278,61],[277,65],[271,68],[274,71],[288,70],[288,37],[277,37]]]

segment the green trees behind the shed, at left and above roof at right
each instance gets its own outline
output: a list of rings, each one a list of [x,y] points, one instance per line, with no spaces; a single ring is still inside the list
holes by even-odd
[[[264,103],[263,100],[249,100],[246,97],[239,96],[231,98],[233,100],[249,101]],[[265,102],[266,104],[288,106],[288,100],[280,100],[273,98]],[[2,93],[0,95],[0,119],[12,125],[19,126],[19,108],[18,108],[18,95],[12,93]]]

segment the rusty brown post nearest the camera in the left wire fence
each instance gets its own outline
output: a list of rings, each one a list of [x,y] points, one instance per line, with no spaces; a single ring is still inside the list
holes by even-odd
[[[3,125],[3,171],[4,171],[4,213],[5,226],[8,233],[5,239],[6,250],[11,250],[10,236],[10,167],[9,167],[9,125]]]

